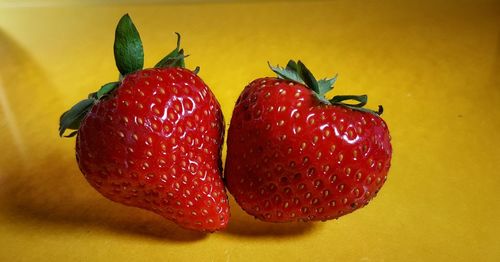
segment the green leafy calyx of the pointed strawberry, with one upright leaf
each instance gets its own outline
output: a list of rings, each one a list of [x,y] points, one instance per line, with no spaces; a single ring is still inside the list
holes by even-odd
[[[155,65],[155,68],[185,67],[184,50],[180,48],[181,36],[177,34],[177,45],[167,56]],[[100,100],[112,95],[113,91],[120,86],[123,78],[133,72],[142,70],[144,67],[144,49],[141,37],[132,19],[128,14],[121,17],[115,30],[115,41],[113,45],[115,63],[120,72],[119,80],[103,85],[97,92],[90,93],[86,99],[81,100],[64,112],[59,119],[59,136],[63,136],[66,130],[73,130],[64,137],[73,137],[78,133],[80,123],[90,112],[92,107]],[[196,67],[195,74],[200,68]]]

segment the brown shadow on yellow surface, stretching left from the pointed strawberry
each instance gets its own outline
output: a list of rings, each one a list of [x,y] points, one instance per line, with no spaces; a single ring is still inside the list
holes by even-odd
[[[104,230],[163,241],[195,241],[206,237],[156,214],[105,199],[72,168],[72,161],[61,161],[60,154],[52,153],[37,161],[36,167],[18,166],[4,174],[1,205],[15,218],[14,225],[42,224],[54,228],[53,232],[63,233]]]

